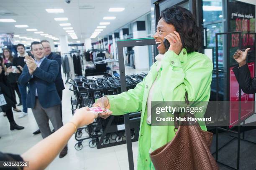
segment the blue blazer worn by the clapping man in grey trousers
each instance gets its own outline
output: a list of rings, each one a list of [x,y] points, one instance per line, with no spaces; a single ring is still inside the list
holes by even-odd
[[[58,62],[47,58],[33,72],[33,78],[28,72],[27,65],[24,66],[18,81],[21,85],[26,85],[29,82],[27,95],[27,106],[29,108],[34,108],[35,106],[36,89],[38,100],[42,107],[49,108],[61,103],[54,83],[58,73]]]

